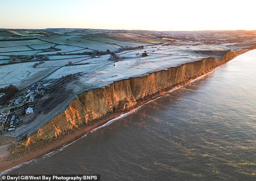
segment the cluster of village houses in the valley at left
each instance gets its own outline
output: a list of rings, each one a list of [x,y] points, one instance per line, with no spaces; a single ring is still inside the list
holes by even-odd
[[[34,105],[46,91],[47,88],[43,84],[33,84],[15,95],[15,98],[9,101],[7,107],[0,109],[0,134],[13,131],[22,125],[21,118],[34,113]]]

